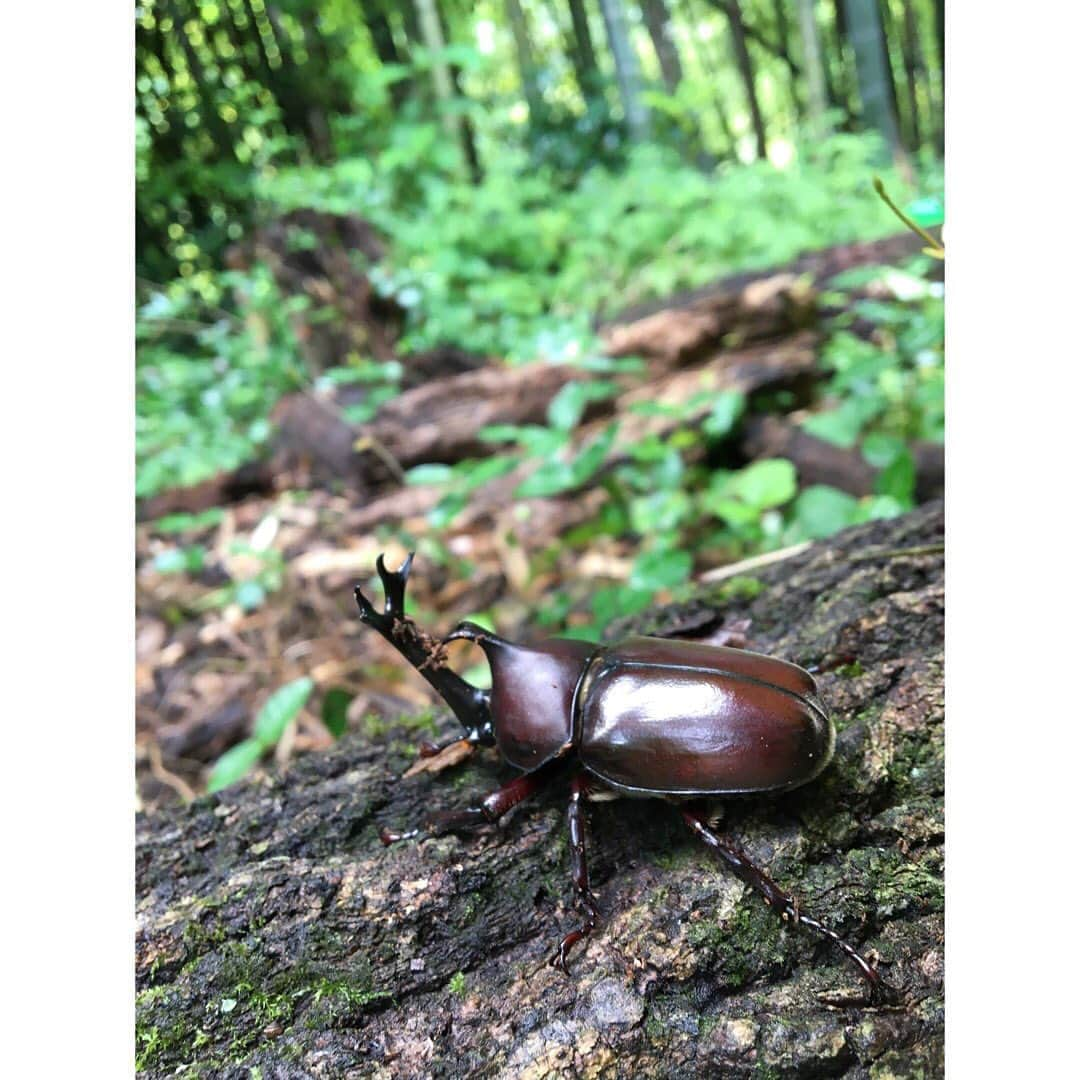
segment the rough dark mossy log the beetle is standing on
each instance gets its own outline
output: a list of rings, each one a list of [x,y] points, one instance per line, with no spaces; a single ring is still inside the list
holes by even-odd
[[[899,1004],[860,1003],[842,957],[656,800],[591,808],[603,920],[557,973],[545,960],[577,919],[566,791],[470,837],[384,849],[380,826],[505,777],[477,754],[401,780],[417,741],[401,727],[139,819],[141,1075],[941,1076],[942,536],[931,504],[636,620],[750,620],[755,648],[823,665],[833,764],[780,798],[727,801],[721,828],[875,958]]]

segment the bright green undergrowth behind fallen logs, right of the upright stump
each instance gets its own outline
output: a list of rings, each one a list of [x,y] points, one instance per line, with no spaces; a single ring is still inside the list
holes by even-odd
[[[405,203],[359,158],[283,170],[261,194],[276,212],[360,214],[387,237],[373,282],[408,312],[405,351],[453,343],[514,361],[580,345],[599,313],[895,231],[870,187],[879,160],[876,137],[835,135],[786,168],[705,174],[643,146],[624,168],[593,168],[566,190],[508,152],[478,188],[430,174]]]

